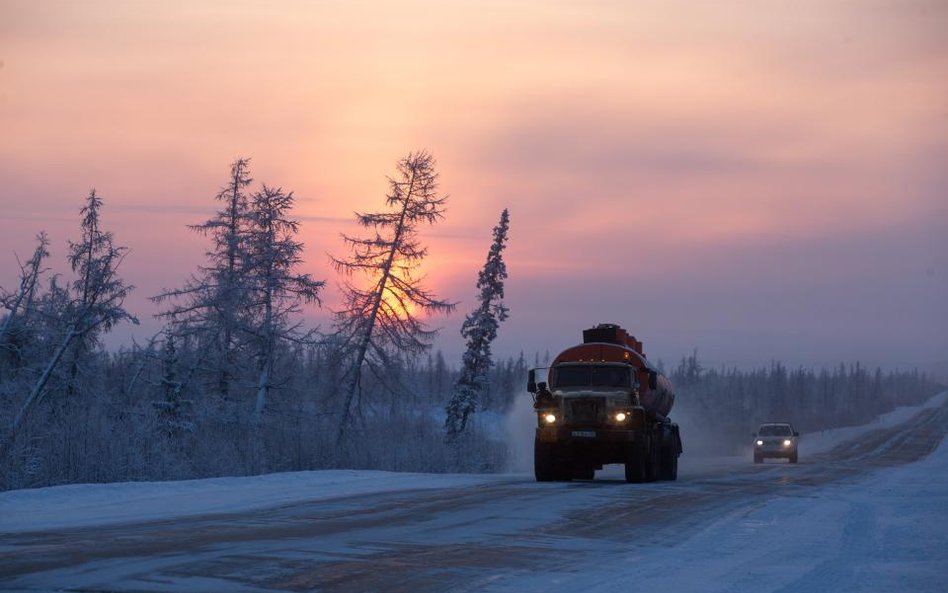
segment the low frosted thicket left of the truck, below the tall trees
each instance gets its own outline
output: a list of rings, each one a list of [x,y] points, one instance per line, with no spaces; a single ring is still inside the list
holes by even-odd
[[[414,365],[368,374],[351,434],[337,440],[344,392],[330,345],[283,349],[261,421],[254,418],[256,373],[238,368],[227,398],[201,368],[203,353],[156,340],[85,359],[76,394],[57,387],[36,409],[2,465],[2,488],[253,475],[326,468],[393,471],[501,471],[505,446],[488,422],[523,392],[526,364],[500,361],[488,376],[479,423],[462,437],[463,459],[445,443],[444,406],[459,372],[440,352]],[[6,369],[8,372],[9,368]],[[188,379],[185,375],[192,373]],[[30,373],[5,374],[4,418]],[[183,383],[186,385],[182,389]],[[487,420],[491,419],[491,420]]]

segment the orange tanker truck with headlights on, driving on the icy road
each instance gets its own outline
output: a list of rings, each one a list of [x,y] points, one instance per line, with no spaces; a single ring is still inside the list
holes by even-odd
[[[547,381],[539,381],[546,370]],[[675,393],[642,342],[618,325],[583,331],[583,343],[531,369],[537,414],[533,467],[538,482],[591,480],[604,465],[625,466],[626,482],[678,479]]]

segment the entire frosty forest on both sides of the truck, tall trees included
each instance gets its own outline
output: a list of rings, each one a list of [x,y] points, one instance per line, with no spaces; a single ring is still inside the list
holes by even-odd
[[[126,249],[94,190],[69,242],[71,274],[49,272],[50,240],[40,233],[19,277],[4,280],[0,489],[326,468],[508,469],[499,424],[529,397],[528,367],[548,361],[491,352],[509,314],[507,210],[485,232],[483,268],[471,271],[478,299],[454,364],[433,351],[426,318],[456,305],[419,273],[423,230],[447,199],[429,153],[401,159],[384,208],[356,214],[363,234],[344,236],[348,252],[332,256],[343,305],[327,331],[304,323],[326,280],[299,272],[292,192],[254,186],[250,161],[237,159],[213,199],[217,212],[191,227],[207,242],[206,260],[180,286],[149,295],[164,327],[147,343],[103,346],[114,327],[138,319],[124,306],[133,290],[121,276]],[[703,368],[697,352],[668,374],[672,415],[687,419],[686,454],[688,431],[703,449],[733,453],[762,420],[792,420],[803,432],[859,424],[943,389],[914,370],[858,363]]]

